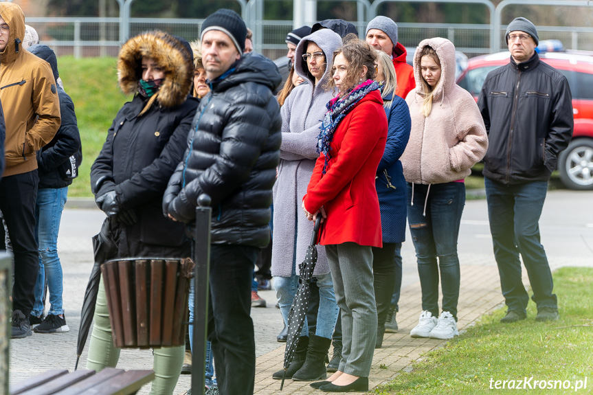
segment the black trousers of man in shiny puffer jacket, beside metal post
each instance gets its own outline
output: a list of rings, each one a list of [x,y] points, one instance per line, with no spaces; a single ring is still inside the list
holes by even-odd
[[[254,393],[256,344],[249,313],[258,251],[242,245],[210,246],[208,340],[221,395]]]

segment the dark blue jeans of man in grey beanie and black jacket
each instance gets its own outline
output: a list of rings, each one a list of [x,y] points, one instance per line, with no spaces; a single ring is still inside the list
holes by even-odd
[[[539,216],[548,183],[532,181],[504,185],[490,179],[485,179],[484,183],[494,256],[508,310],[526,313],[529,302],[521,279],[519,253],[533,290],[531,299],[537,308],[557,308],[556,295],[552,293],[552,272],[544,246],[539,242]]]

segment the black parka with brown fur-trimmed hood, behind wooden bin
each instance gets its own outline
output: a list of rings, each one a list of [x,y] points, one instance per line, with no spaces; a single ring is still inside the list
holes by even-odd
[[[154,58],[165,77],[155,102],[139,115],[148,102],[138,93],[144,56]],[[163,216],[161,201],[167,181],[183,159],[196,113],[198,102],[188,97],[193,74],[190,49],[158,30],[130,38],[120,50],[120,89],[135,96],[115,116],[91,166],[96,198],[115,190],[122,210],[133,210],[138,218],[130,226],[111,223],[119,257],[183,258],[190,254],[185,227]]]

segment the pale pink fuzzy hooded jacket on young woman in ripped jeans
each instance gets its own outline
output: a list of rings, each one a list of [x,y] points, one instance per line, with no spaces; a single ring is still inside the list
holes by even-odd
[[[421,56],[432,47],[440,61],[440,79],[434,87],[432,111],[421,113]],[[446,38],[421,41],[414,54],[416,88],[405,101],[410,106],[412,131],[403,155],[403,175],[410,183],[448,183],[464,179],[488,148],[486,128],[471,94],[455,83],[455,47]]]

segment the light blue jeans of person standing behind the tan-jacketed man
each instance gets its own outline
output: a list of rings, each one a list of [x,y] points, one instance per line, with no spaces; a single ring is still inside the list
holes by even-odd
[[[68,187],[43,188],[37,191],[35,205],[35,238],[39,250],[39,271],[35,283],[35,304],[32,315],[41,317],[45,281],[49,289],[49,311],[47,314],[62,315],[62,264],[58,257],[58,232],[62,210],[66,203]]]

